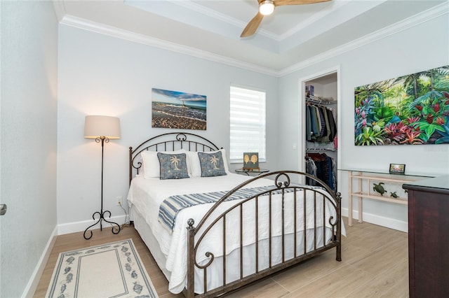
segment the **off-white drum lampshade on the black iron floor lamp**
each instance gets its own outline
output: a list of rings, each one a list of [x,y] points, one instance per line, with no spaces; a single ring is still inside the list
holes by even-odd
[[[120,119],[112,116],[86,116],[84,138],[97,139],[99,136],[120,139]]]

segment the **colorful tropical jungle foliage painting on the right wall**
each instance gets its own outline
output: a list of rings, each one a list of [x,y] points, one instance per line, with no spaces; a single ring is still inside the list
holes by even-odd
[[[449,66],[354,88],[356,146],[449,144]]]

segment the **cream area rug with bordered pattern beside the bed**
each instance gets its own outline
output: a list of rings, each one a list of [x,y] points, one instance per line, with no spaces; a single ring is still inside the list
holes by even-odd
[[[132,239],[60,253],[46,297],[158,297]]]

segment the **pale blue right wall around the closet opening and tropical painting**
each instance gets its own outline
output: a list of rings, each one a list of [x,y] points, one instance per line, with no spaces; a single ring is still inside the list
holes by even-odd
[[[408,27],[395,34],[386,35],[373,43],[344,52],[341,55],[295,71],[279,80],[279,103],[288,107],[279,117],[279,141],[285,148],[279,166],[298,164],[304,156],[293,150],[291,143],[301,143],[300,134],[301,78],[340,67],[340,131],[338,146],[341,152],[340,169],[367,169],[388,171],[390,163],[406,164],[409,173],[449,173],[449,145],[426,146],[354,146],[354,87],[424,71],[449,64],[448,13]],[[294,140],[294,141],[292,141]],[[300,146],[298,146],[300,148]],[[346,173],[339,181],[343,208],[347,211]],[[354,203],[356,200],[354,200]],[[354,210],[357,205],[354,204]],[[404,227],[408,220],[407,207],[365,200],[363,211],[367,221],[390,227]]]

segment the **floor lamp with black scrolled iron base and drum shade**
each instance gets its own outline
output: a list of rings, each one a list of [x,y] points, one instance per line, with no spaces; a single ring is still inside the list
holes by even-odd
[[[89,226],[84,231],[84,239],[91,239],[92,231],[89,236],[86,236],[88,229],[100,223],[100,231],[102,231],[102,221],[109,222],[112,225],[112,234],[119,234],[120,225],[116,222],[110,222],[105,218],[111,218],[111,211],[103,211],[103,150],[105,148],[105,143],[109,143],[109,140],[120,139],[120,119],[111,116],[86,116],[86,122],[84,123],[84,138],[85,139],[95,139],[95,142],[101,143],[101,209],[93,213],[92,218],[95,220],[95,215],[99,215],[97,221]],[[115,227],[116,226],[116,227]]]

